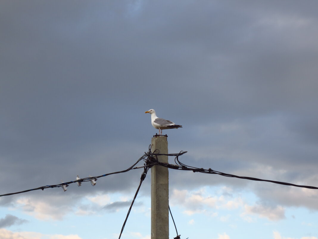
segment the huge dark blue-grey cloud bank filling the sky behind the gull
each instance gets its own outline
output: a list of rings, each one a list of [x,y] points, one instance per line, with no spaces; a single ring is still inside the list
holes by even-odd
[[[186,164],[315,183],[315,9],[316,1],[1,3],[0,181],[11,183],[0,194],[128,168],[156,133],[150,108],[183,125],[164,133],[170,152],[189,151]],[[176,186],[250,185],[170,175]],[[67,193],[134,191],[138,178]],[[24,195],[48,190],[64,193]]]

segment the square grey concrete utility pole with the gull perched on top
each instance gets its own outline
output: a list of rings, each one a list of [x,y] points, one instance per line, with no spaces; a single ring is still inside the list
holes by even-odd
[[[166,136],[151,139],[151,151],[168,154]],[[155,152],[157,153],[158,150]],[[158,156],[158,161],[168,163],[168,156]],[[169,239],[169,174],[168,168],[155,165],[151,168],[151,239]]]

